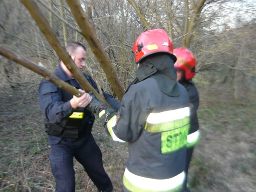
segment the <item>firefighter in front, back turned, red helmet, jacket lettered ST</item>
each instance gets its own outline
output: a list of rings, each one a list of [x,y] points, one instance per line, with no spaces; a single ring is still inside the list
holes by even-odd
[[[172,51],[164,30],[140,34],[133,47],[136,78],[118,112],[90,93],[87,109],[99,114],[113,140],[128,142],[124,192],[183,192],[189,100],[176,82]]]

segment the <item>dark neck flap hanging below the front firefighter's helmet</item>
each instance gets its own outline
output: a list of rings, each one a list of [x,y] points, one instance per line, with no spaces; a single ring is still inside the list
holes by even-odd
[[[155,53],[140,62],[136,77],[143,81],[148,77],[156,80],[159,89],[168,96],[179,96],[177,74],[170,54]]]

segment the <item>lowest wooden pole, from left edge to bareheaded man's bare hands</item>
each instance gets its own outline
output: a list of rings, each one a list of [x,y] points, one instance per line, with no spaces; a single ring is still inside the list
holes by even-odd
[[[38,66],[36,63],[24,58],[23,56],[15,53],[15,52],[12,52],[9,49],[6,49],[6,48],[0,46],[0,55],[8,58],[9,60],[13,60],[14,62],[24,66],[25,68],[27,68],[33,72],[36,72],[37,74],[44,77],[47,81],[51,82],[52,84],[55,84],[56,86],[69,92],[70,94],[72,94],[74,96],[80,97],[83,95],[82,92],[78,91],[72,85],[67,84],[60,78],[56,77],[55,75],[50,73],[45,68]]]

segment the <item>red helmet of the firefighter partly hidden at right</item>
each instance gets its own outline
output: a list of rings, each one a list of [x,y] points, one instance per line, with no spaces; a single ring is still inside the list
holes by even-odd
[[[185,78],[191,79],[195,75],[195,57],[187,48],[175,48],[173,54],[177,57],[174,63],[176,69],[185,72]]]

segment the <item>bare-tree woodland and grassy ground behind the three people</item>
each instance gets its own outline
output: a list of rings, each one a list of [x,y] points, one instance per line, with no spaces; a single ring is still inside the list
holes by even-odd
[[[87,42],[64,0],[36,0],[63,45]],[[80,0],[92,6],[98,39],[124,88],[134,79],[131,49],[146,29],[163,28],[174,48],[196,58],[201,139],[189,171],[192,192],[256,192],[256,3],[253,0]],[[62,18],[62,20],[61,20]],[[0,0],[0,45],[53,72],[60,60],[18,0]],[[88,47],[88,68],[114,94]],[[88,70],[88,69],[91,70]],[[54,191],[49,144],[37,99],[41,77],[0,56],[0,191]],[[104,167],[122,192],[127,144],[113,142],[99,120],[93,135]],[[96,192],[75,161],[76,191]]]

